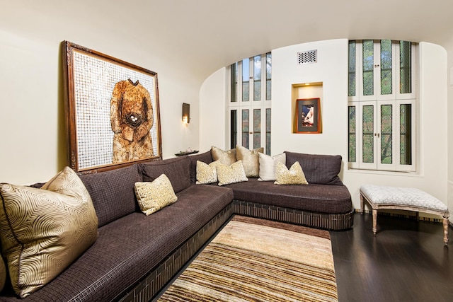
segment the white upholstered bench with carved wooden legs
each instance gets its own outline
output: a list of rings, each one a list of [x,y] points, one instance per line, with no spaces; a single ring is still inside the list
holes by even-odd
[[[398,209],[441,215],[444,226],[444,243],[448,244],[447,206],[432,195],[412,187],[386,187],[380,185],[362,185],[360,187],[360,212],[363,213],[365,200],[372,207],[373,233],[377,232],[377,210]]]

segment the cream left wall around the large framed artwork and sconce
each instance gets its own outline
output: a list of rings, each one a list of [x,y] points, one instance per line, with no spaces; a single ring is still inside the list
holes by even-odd
[[[67,165],[63,64],[60,43],[69,40],[158,74],[164,158],[199,144],[201,82],[151,49],[96,26],[79,30],[55,24],[42,36],[33,19],[17,32],[0,30],[0,182],[30,184],[52,178]],[[128,40],[130,39],[130,40]],[[181,121],[182,103],[190,103],[190,124]]]

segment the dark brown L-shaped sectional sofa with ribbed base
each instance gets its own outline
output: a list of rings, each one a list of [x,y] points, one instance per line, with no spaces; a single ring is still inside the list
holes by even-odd
[[[274,185],[249,179],[219,187],[196,185],[196,162],[210,151],[79,175],[98,216],[98,239],[49,284],[23,301],[148,301],[234,214],[306,226],[352,227],[348,188],[338,178],[340,156],[287,152],[304,168],[309,185]],[[151,216],[140,211],[134,183],[161,174],[178,201]],[[11,286],[0,301],[21,300]]]

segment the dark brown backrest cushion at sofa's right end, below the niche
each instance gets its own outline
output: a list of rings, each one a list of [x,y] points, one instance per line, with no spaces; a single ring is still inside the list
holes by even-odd
[[[343,185],[338,173],[341,168],[341,156],[339,155],[318,155],[297,152],[286,153],[286,166],[289,168],[293,163],[299,161],[304,170],[306,180],[309,183],[321,185]]]

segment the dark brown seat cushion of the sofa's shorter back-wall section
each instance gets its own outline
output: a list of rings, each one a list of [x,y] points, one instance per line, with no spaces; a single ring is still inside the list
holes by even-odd
[[[351,195],[345,185],[274,185],[250,178],[248,182],[226,185],[234,199],[271,204],[302,211],[344,214],[352,211]]]

